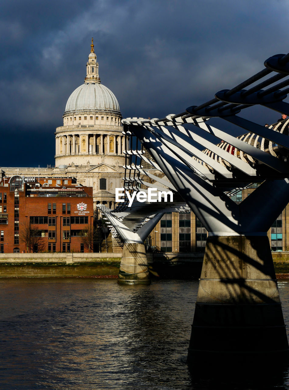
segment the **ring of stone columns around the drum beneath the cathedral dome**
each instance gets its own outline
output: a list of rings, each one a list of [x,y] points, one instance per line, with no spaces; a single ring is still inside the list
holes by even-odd
[[[125,137],[116,134],[68,134],[56,135],[56,156],[74,156],[78,154],[122,155],[125,149]]]

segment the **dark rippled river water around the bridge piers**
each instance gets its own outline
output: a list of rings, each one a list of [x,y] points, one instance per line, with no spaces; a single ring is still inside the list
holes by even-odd
[[[287,366],[247,382],[189,371],[197,280],[19,278],[0,289],[1,390],[289,389]],[[279,291],[289,325],[289,282]]]

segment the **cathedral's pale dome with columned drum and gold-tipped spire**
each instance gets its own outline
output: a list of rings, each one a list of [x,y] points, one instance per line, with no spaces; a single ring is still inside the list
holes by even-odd
[[[55,165],[87,169],[90,173],[92,169],[100,170],[102,178],[108,166],[114,167],[117,183],[110,182],[106,189],[113,192],[120,185],[125,162],[122,116],[116,97],[100,83],[93,46],[92,41],[84,83],[68,98],[63,126],[56,128]],[[98,181],[91,180],[94,191],[98,191]]]

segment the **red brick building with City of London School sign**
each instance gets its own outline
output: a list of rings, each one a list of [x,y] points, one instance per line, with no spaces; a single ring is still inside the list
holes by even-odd
[[[91,187],[72,178],[0,180],[1,253],[88,252],[81,238],[87,227],[93,227]]]

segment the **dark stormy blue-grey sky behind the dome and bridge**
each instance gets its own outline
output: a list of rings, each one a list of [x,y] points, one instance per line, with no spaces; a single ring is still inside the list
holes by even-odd
[[[123,117],[161,118],[288,53],[288,24],[289,0],[2,0],[0,167],[54,165],[54,132],[84,82],[91,37]]]

